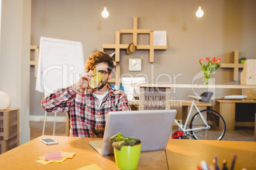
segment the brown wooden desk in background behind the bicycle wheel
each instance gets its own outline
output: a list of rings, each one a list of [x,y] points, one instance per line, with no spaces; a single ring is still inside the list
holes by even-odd
[[[215,100],[213,110],[219,112],[225,120],[226,129],[234,131],[236,103],[256,103],[256,100]]]

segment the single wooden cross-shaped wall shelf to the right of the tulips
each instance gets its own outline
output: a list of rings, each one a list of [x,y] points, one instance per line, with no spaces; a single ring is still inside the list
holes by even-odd
[[[234,63],[220,63],[220,68],[227,68],[234,70],[234,81],[238,81],[238,72],[239,69],[243,69],[243,65],[239,63],[239,53],[234,51]]]

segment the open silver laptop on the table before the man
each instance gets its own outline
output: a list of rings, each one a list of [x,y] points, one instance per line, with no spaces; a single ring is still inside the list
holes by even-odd
[[[89,141],[99,154],[113,155],[108,138],[117,133],[141,140],[141,152],[164,150],[177,110],[139,110],[108,112],[103,140]]]

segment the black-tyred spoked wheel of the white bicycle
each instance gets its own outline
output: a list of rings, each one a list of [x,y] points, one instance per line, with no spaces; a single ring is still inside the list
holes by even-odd
[[[223,117],[214,110],[201,110],[204,119],[210,125],[209,129],[191,131],[196,140],[221,140],[225,134],[226,125]],[[192,117],[190,128],[206,127],[199,113]]]

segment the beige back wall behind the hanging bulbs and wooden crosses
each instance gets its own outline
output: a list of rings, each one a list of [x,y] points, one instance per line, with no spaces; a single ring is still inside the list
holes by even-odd
[[[71,41],[81,41],[85,61],[102,44],[115,43],[115,32],[132,29],[132,18],[138,16],[138,29],[166,30],[167,50],[155,51],[155,62],[148,63],[148,51],[136,50],[126,55],[121,50],[121,75],[148,75],[155,83],[160,74],[166,74],[178,84],[192,84],[201,71],[199,59],[206,56],[220,57],[222,63],[233,62],[232,51],[239,51],[239,58],[256,58],[256,1],[214,0],[201,1],[202,18],[196,17],[198,0],[108,0],[108,18],[101,16],[102,0],[32,0],[31,44],[39,46],[41,36]],[[124,36],[123,43],[131,37]],[[147,38],[139,36],[139,43]],[[141,72],[129,72],[129,58],[142,59]],[[34,74],[31,67],[31,75]],[[241,72],[241,70],[240,70]],[[178,76],[181,74],[181,76]],[[232,69],[218,69],[216,84],[240,84],[233,81]],[[43,95],[34,91],[31,76],[31,115],[43,115],[40,107]],[[167,76],[159,81],[171,83]],[[173,83],[173,82],[172,82]],[[196,83],[203,83],[203,77]],[[196,89],[203,93],[205,89]],[[215,95],[240,95],[241,90],[217,89]],[[187,100],[193,95],[190,89],[177,89],[173,99]]]

